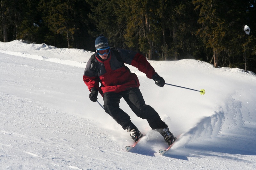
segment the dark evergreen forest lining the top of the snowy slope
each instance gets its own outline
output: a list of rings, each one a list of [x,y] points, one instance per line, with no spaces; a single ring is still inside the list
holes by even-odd
[[[197,59],[256,72],[256,0],[0,2],[3,42],[22,39],[95,51],[95,38],[103,33],[110,46],[149,60]]]

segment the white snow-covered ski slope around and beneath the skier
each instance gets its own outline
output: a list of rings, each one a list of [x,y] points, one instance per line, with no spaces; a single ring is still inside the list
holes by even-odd
[[[120,107],[145,133],[133,152],[124,131],[82,77],[93,52],[25,41],[0,42],[0,169],[255,169],[256,75],[197,60],[149,61],[166,83],[137,68],[146,103],[179,140],[163,137]],[[103,104],[103,98],[99,96]]]

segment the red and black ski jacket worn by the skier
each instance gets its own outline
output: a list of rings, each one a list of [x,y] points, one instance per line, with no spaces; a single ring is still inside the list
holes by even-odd
[[[95,54],[95,62],[92,62],[91,59],[87,62],[83,79],[89,91],[92,87],[95,87],[103,96],[105,92],[122,92],[130,88],[139,87],[140,83],[137,75],[131,73],[124,63],[137,67],[148,78],[152,78],[156,73],[147,59],[140,53],[124,49],[115,50],[119,52],[118,57],[121,58],[123,63],[117,58],[113,49],[110,50],[106,60],[102,60],[98,54]],[[94,69],[92,69],[92,64]],[[99,83],[101,84],[100,86]]]

